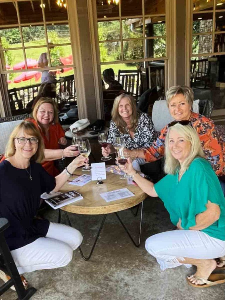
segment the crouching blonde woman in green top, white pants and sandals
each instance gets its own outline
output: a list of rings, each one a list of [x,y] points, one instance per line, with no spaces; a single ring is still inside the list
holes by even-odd
[[[225,256],[225,199],[217,176],[204,158],[196,130],[189,121],[172,122],[165,144],[168,174],[156,184],[142,178],[130,159],[124,168],[141,189],[160,197],[170,219],[180,230],[158,233],[146,241],[146,250],[162,270],[197,266],[187,281],[195,287],[225,283],[225,274],[211,274]]]

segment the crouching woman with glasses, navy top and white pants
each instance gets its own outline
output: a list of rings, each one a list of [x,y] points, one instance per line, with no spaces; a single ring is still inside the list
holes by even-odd
[[[0,217],[10,223],[4,233],[19,273],[67,265],[73,250],[82,242],[81,233],[34,217],[41,194],[59,190],[77,167],[87,164],[87,159],[79,156],[58,176],[49,175],[40,164],[44,142],[35,125],[28,121],[12,132],[5,157],[0,164]],[[0,277],[9,279],[2,271]],[[27,286],[26,279],[21,278]]]

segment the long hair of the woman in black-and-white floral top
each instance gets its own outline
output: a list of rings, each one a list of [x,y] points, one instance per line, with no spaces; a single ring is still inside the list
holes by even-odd
[[[112,120],[115,122],[116,126],[118,127],[119,131],[122,134],[126,133],[126,127],[127,127],[126,122],[123,120],[123,118],[118,113],[120,100],[122,100],[123,98],[126,98],[129,100],[131,108],[132,108],[131,128],[129,128],[129,129],[134,130],[135,126],[138,124],[138,115],[137,115],[137,109],[136,109],[136,103],[135,103],[134,97],[132,97],[132,95],[127,95],[125,93],[119,95],[114,100],[113,108],[111,111],[111,116],[112,116]]]

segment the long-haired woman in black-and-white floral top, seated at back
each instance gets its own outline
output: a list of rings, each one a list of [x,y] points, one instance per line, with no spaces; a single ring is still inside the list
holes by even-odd
[[[140,171],[140,165],[145,164],[144,159],[135,159],[138,148],[149,147],[154,141],[155,127],[147,113],[137,112],[135,99],[131,95],[119,95],[113,104],[112,120],[109,127],[109,139],[106,148],[102,147],[104,156],[115,152],[113,140],[117,134],[123,136],[126,148],[133,150],[131,158],[134,158],[133,167]]]

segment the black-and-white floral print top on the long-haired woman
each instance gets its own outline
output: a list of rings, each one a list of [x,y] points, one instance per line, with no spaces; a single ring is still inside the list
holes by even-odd
[[[109,126],[109,138],[108,143],[113,144],[113,140],[116,134],[120,134],[123,136],[127,149],[138,149],[142,147],[149,147],[151,143],[153,143],[155,139],[155,127],[147,113],[139,113],[138,114],[138,124],[134,131],[134,138],[127,132],[125,134],[121,134],[119,128],[116,123],[111,120]]]

